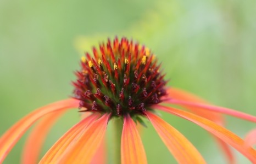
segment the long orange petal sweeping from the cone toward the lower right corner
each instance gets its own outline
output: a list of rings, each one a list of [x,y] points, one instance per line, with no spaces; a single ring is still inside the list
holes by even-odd
[[[203,127],[205,130],[209,131],[210,133],[214,134],[216,137],[219,137],[221,140],[230,144],[233,148],[240,151],[244,156],[246,156],[250,161],[256,163],[256,150],[252,147],[249,147],[244,140],[238,137],[236,134],[232,133],[231,131],[227,130],[226,128],[215,124],[214,122],[202,118],[200,116],[194,115],[192,113],[188,113],[183,110],[165,107],[165,106],[155,106],[159,110],[163,110],[165,112],[180,116],[186,120],[194,122],[195,124]]]

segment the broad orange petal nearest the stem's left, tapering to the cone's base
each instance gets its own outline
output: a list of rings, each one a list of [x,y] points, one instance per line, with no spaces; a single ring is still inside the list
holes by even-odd
[[[104,137],[110,114],[104,114],[88,126],[57,163],[90,163]]]

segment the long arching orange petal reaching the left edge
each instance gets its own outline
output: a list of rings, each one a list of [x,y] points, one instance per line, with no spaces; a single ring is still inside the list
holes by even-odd
[[[43,115],[48,113],[65,110],[68,108],[76,108],[79,106],[79,101],[76,99],[65,99],[63,101],[49,104],[48,106],[36,109],[34,112],[26,115],[23,119],[16,122],[7,132],[0,138],[0,163],[3,162],[9,151],[13,148],[20,137],[26,132],[26,130],[34,124],[34,122],[40,119]]]

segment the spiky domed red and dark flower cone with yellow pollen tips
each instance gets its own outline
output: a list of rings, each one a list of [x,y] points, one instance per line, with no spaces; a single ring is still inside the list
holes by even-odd
[[[81,58],[81,71],[74,97],[80,99],[80,112],[141,115],[166,95],[164,75],[152,52],[145,46],[122,38],[108,39],[107,46],[93,48],[93,56]]]

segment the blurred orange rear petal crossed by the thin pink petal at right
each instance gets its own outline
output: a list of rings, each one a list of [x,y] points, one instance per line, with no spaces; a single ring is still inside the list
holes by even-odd
[[[176,99],[179,101],[186,101],[186,102],[192,102],[192,103],[209,104],[204,99],[202,99],[196,95],[193,95],[190,92],[183,91],[181,89],[177,89],[174,87],[171,87],[170,89],[168,89],[168,93],[169,93],[168,96],[171,99],[170,99],[170,101],[165,101],[166,103],[170,103],[170,102],[172,102],[173,99]],[[212,111],[206,111],[206,110],[200,110],[199,107],[187,106],[187,104],[179,104],[179,105],[190,110],[192,113],[197,114],[205,119],[214,121],[221,125],[224,124],[224,118],[219,113],[215,113]]]

